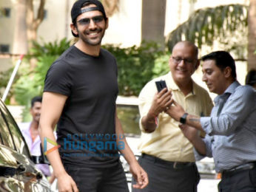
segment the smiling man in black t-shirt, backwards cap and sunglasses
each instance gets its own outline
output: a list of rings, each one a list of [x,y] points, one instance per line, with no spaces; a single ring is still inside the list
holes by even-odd
[[[58,190],[127,192],[118,151],[137,179],[133,187],[144,188],[147,174],[127,145],[116,114],[116,61],[101,49],[108,27],[104,7],[97,0],[78,0],[71,17],[70,27],[78,42],[47,72],[40,120],[41,141],[58,179]],[[60,148],[50,150],[56,123]]]

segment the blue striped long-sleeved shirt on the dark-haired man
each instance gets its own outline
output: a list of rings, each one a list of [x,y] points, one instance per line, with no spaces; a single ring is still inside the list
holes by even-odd
[[[206,156],[214,158],[217,172],[256,161],[256,92],[251,86],[233,82],[215,98],[211,117],[201,117],[201,126]],[[197,152],[195,157],[202,159]]]

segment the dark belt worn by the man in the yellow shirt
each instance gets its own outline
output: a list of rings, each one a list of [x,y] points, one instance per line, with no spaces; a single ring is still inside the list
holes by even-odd
[[[141,158],[150,160],[155,163],[159,163],[161,165],[166,165],[168,167],[175,168],[175,169],[189,168],[195,165],[195,162],[172,162],[172,161],[161,160],[160,158],[154,157],[149,154],[141,154]]]

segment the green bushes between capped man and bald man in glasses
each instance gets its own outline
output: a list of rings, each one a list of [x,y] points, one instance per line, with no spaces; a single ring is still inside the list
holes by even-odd
[[[138,95],[154,75],[166,71],[168,66],[168,60],[166,66],[161,64],[161,58],[165,58],[167,53],[155,42],[142,42],[140,47],[105,45],[104,48],[112,52],[117,60],[119,95]]]

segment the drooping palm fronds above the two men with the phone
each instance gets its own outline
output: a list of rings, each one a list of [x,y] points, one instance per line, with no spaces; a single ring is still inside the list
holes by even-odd
[[[247,8],[241,4],[228,4],[195,11],[166,37],[169,50],[178,41],[192,41],[201,48],[202,44],[211,46],[216,39],[223,41],[236,30],[246,33]]]

